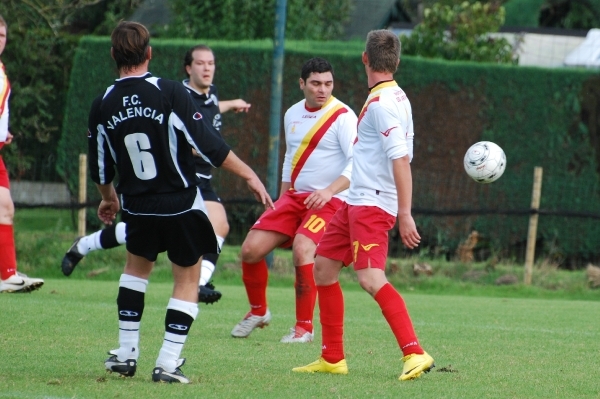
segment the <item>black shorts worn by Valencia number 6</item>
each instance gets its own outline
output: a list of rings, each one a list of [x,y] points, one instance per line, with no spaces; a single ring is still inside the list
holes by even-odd
[[[127,251],[156,261],[160,252],[179,266],[194,266],[205,254],[219,253],[208,216],[200,210],[169,216],[122,213],[126,224]]]

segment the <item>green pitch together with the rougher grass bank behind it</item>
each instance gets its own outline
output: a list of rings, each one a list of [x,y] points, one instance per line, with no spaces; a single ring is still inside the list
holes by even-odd
[[[522,266],[428,260],[434,275],[416,277],[411,265],[423,259],[393,260],[397,270],[390,281],[437,365],[419,380],[399,382],[401,353],[351,270],[341,276],[350,374],[291,372],[318,357],[320,330],[316,323],[311,344],[279,343],[294,323],[289,251],[276,252],[271,270],[271,325],[248,339],[231,338],[247,311],[235,246],[225,247],[214,277],[223,298],[201,306],[183,352],[183,370],[193,384],[150,381],[172,289],[164,256],[146,296],[138,374],[118,378],[104,372],[103,361],[117,346],[115,300],[124,248],[88,255],[66,278],[60,260],[75,236],[70,212],[18,211],[15,225],[19,269],[46,284],[31,294],[0,295],[0,398],[600,397],[600,291],[587,286],[583,271],[540,262],[533,286],[496,286],[499,275],[522,276]],[[474,271],[469,275],[478,278],[464,278]]]

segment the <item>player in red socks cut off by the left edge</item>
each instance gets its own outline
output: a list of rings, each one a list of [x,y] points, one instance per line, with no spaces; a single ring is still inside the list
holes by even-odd
[[[7,25],[0,15],[0,55],[6,45]],[[0,61],[0,148],[10,144],[12,134],[8,130],[8,97],[10,96],[10,83],[6,76],[4,64]],[[28,292],[37,290],[44,284],[44,280],[30,278],[17,273],[17,259],[15,254],[15,234],[13,217],[15,207],[10,196],[10,183],[8,171],[0,156],[0,293],[2,292]]]

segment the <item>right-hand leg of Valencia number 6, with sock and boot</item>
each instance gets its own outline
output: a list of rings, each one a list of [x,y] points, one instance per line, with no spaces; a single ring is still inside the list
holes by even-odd
[[[165,336],[158,353],[156,367],[152,372],[154,382],[178,382],[188,384],[180,367],[185,363],[181,351],[192,323],[198,316],[198,281],[202,258],[194,266],[182,267],[173,263],[173,297],[167,305]]]

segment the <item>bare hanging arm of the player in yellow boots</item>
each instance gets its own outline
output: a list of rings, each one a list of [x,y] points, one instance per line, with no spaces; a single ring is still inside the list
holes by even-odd
[[[398,228],[400,238],[407,248],[416,248],[421,242],[417,226],[411,215],[412,205],[412,173],[408,155],[392,161],[394,182],[398,192]]]

